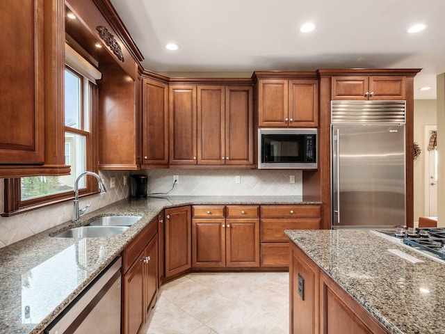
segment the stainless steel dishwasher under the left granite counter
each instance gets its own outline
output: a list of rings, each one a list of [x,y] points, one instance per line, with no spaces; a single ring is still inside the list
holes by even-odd
[[[120,334],[118,257],[44,330],[44,334]]]

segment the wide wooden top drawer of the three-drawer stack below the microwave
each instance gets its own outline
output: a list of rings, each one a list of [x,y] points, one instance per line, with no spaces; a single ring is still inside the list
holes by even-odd
[[[261,218],[321,218],[321,205],[261,205]]]

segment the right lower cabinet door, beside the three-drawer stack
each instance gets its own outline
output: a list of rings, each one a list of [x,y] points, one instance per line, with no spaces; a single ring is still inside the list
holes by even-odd
[[[259,219],[226,219],[226,266],[259,267]]]

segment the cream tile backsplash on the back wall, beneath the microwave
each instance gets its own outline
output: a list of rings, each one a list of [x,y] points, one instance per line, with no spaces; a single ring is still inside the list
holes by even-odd
[[[179,182],[170,196],[301,196],[301,170],[251,169],[149,169],[140,174],[148,176],[149,193],[166,193],[172,189],[173,175]],[[133,173],[136,174],[136,173]],[[235,183],[235,176],[241,183]],[[295,175],[296,182],[289,183]]]

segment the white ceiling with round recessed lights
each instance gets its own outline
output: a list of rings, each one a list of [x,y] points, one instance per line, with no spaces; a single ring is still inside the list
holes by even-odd
[[[146,70],[250,77],[254,70],[421,68],[416,99],[445,72],[444,0],[111,0]],[[312,21],[316,30],[300,33]],[[427,24],[410,34],[413,24]],[[178,51],[165,49],[176,42]],[[231,74],[229,74],[231,72]],[[233,72],[238,72],[234,74]],[[195,74],[200,75],[200,74]],[[421,86],[431,86],[420,91]]]

